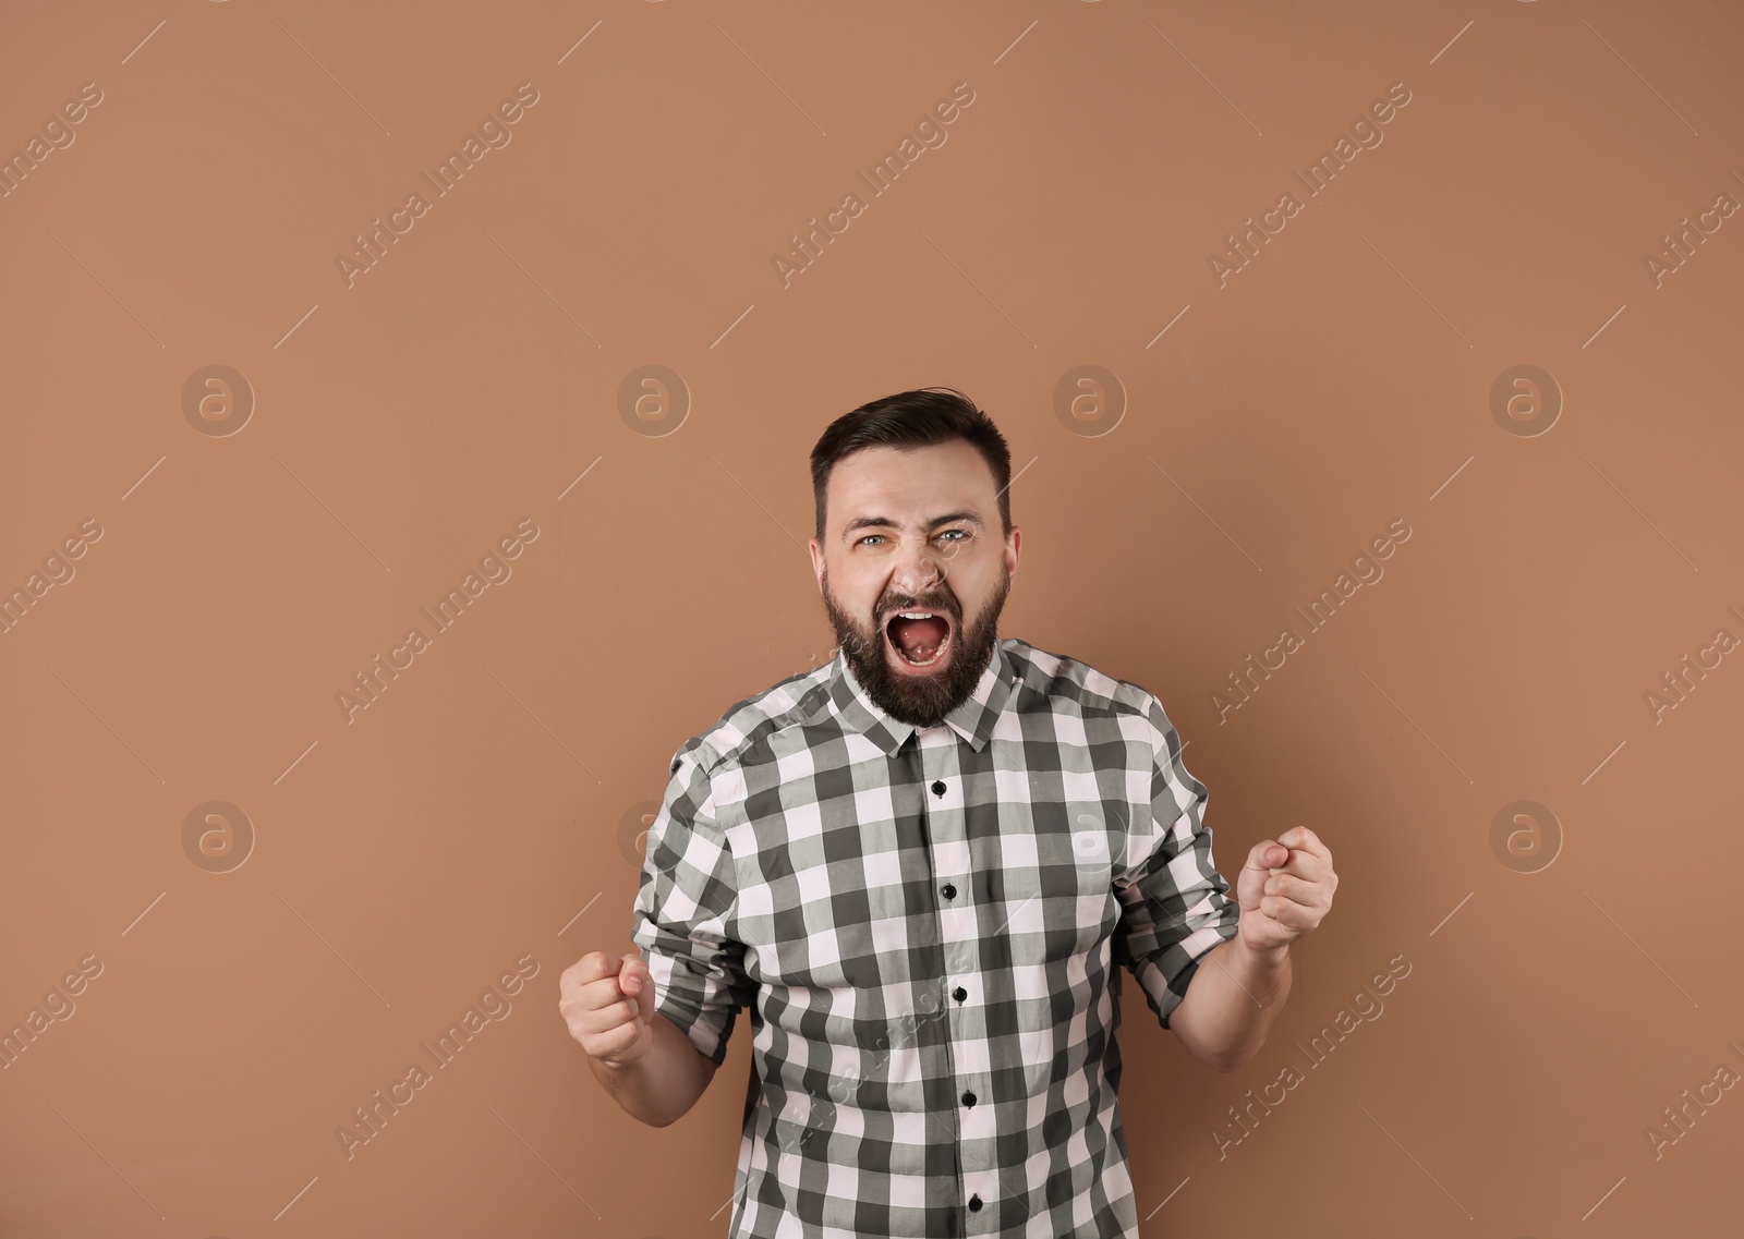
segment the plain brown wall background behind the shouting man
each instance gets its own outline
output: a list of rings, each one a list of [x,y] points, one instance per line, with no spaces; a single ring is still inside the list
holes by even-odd
[[[748,1016],[656,1131],[556,978],[630,950],[677,746],[830,655],[816,436],[928,383],[1022,471],[1003,633],[1162,697],[1226,873],[1298,823],[1341,873],[1243,1072],[1127,1004],[1144,1234],[1735,1218],[1744,1093],[1657,1157],[1648,1129],[1744,1073],[1744,653],[1714,647],[1744,636],[1744,216],[1646,265],[1744,195],[1735,5],[9,3],[0,45],[0,153],[103,92],[0,199],[0,586],[103,530],[0,636],[0,1025],[101,964],[0,1072],[0,1232],[726,1234]],[[352,237],[523,82],[511,143],[347,286]],[[959,82],[945,145],[783,286],[788,237]],[[1306,197],[1393,84],[1383,143]],[[209,389],[202,430],[213,364],[253,406]],[[684,387],[626,416],[651,364]],[[1118,389],[1062,406],[1083,366]],[[1395,519],[1310,634],[1292,606]],[[251,843],[183,845],[211,800]],[[340,1124],[523,957],[347,1159]],[[1395,957],[1385,1011],[1357,999]]]

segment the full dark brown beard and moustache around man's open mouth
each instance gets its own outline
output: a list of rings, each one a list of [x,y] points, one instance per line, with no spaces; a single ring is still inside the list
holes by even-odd
[[[982,674],[992,662],[999,640],[999,612],[1012,591],[1012,573],[999,572],[999,587],[982,606],[980,615],[964,627],[963,608],[945,589],[935,589],[921,598],[893,594],[884,598],[872,613],[870,624],[860,624],[830,592],[828,570],[823,573],[823,610],[835,629],[835,643],[848,659],[855,680],[867,690],[872,702],[891,718],[914,727],[937,727],[952,709],[975,692]],[[884,624],[896,612],[933,610],[950,617],[950,648],[945,666],[933,673],[896,671],[889,664]]]

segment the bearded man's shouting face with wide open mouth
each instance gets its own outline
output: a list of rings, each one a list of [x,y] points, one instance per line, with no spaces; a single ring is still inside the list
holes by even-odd
[[[961,439],[863,448],[835,464],[827,500],[811,565],[848,666],[886,714],[937,727],[987,671],[1017,573],[992,469]]]

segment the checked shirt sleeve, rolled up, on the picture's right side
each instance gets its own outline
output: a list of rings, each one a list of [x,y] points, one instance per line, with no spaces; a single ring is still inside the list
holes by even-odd
[[[1210,856],[1205,784],[1181,763],[1181,737],[1155,695],[1144,695],[1151,723],[1151,812],[1134,823],[1142,863],[1114,878],[1121,903],[1114,960],[1144,988],[1163,1028],[1188,983],[1217,943],[1235,938],[1242,906]]]

